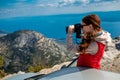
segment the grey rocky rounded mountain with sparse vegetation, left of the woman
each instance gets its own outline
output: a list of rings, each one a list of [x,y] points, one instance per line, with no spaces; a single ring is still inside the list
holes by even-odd
[[[1,68],[12,73],[27,71],[35,65],[53,66],[70,59],[65,46],[30,30],[0,37],[0,57],[3,57]]]

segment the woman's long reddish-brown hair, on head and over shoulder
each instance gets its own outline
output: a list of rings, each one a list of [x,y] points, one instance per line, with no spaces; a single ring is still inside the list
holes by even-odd
[[[82,22],[84,22],[86,25],[92,24],[94,31],[100,31],[101,30],[101,27],[100,27],[100,18],[97,15],[95,15],[95,14],[91,14],[91,15],[85,16],[82,19]],[[89,44],[91,42],[93,42],[94,40],[95,40],[95,34],[94,34],[94,32],[87,32],[87,33],[85,33],[83,35],[82,41],[81,41],[81,43],[79,45],[78,52],[85,53],[86,49],[89,46]]]

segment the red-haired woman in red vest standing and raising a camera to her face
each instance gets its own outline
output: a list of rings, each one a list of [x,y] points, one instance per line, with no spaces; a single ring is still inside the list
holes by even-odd
[[[102,30],[100,18],[95,15],[87,15],[82,19],[82,41],[73,44],[72,33],[74,25],[70,25],[67,34],[67,50],[79,53],[77,66],[100,69],[100,60],[108,42],[111,42],[110,34]]]

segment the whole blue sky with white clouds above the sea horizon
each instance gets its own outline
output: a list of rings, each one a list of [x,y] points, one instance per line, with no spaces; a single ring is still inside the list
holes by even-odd
[[[0,0],[0,18],[119,10],[120,0]]]

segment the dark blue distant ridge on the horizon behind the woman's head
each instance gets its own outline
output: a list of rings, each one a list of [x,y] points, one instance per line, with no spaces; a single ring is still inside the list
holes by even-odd
[[[95,12],[86,12],[86,13],[77,13],[77,14],[60,14],[60,15],[49,15],[49,16],[73,16],[73,17],[80,17],[86,16],[88,14],[97,14],[102,21],[120,21],[120,11],[95,11]]]

